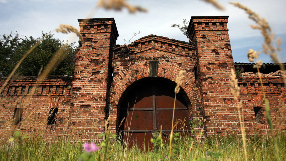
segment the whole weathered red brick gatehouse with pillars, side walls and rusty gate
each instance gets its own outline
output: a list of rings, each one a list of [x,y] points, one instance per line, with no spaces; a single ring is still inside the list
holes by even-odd
[[[193,16],[187,31],[190,43],[148,35],[120,46],[115,45],[118,31],[113,18],[79,19],[84,43],[78,47],[74,75],[48,76],[43,82],[37,82],[37,77],[11,80],[0,94],[1,137],[10,128],[9,120],[20,118],[21,122],[12,123],[16,129],[41,130],[47,136],[73,132],[92,139],[108,116],[112,133],[123,132],[124,138],[129,135],[138,144],[144,137],[149,142],[161,125],[168,136],[174,80],[181,70],[186,73],[176,99],[175,131],[188,131],[184,120],[193,117],[203,122],[198,131],[204,136],[240,133],[229,83],[235,64],[227,22],[228,16]],[[263,74],[262,80],[272,119],[282,122],[274,123],[275,129],[285,130],[281,72]],[[265,105],[258,75],[243,74],[239,86],[246,133],[264,132]]]

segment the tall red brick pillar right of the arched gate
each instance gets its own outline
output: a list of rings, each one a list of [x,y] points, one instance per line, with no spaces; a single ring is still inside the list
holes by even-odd
[[[234,69],[227,22],[229,16],[192,16],[188,33],[196,44],[205,134],[238,132],[238,110],[230,90]]]

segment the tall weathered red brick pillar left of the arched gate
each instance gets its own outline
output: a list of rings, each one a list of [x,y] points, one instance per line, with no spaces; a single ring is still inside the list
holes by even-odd
[[[110,53],[118,31],[114,18],[78,21],[84,43],[76,56],[70,117],[76,133],[91,139],[104,128]]]

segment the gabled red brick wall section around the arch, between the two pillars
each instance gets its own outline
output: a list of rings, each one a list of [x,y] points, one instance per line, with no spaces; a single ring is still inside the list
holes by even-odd
[[[157,35],[142,37],[130,45],[113,48],[112,67],[114,67],[114,83],[111,87],[110,104],[113,106],[112,130],[116,131],[121,120],[118,102],[123,92],[138,79],[149,77],[149,62],[159,61],[158,77],[175,80],[178,71],[186,70],[186,78],[182,89],[189,100],[190,115],[200,118],[200,92],[194,80],[193,67],[196,66],[195,47],[191,43],[169,39]],[[201,127],[199,128],[201,130]]]

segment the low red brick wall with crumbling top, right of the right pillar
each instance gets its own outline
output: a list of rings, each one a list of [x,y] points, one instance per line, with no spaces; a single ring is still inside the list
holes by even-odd
[[[269,100],[271,121],[275,131],[286,130],[286,90],[281,71],[262,74],[263,90]],[[240,99],[243,101],[243,114],[247,134],[269,131],[265,120],[265,103],[258,73],[243,73],[239,79]],[[255,117],[254,108],[261,107]]]

